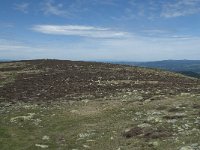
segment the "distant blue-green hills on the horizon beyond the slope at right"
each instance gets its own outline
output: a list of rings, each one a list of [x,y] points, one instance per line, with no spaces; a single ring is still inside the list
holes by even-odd
[[[163,60],[152,62],[114,62],[140,67],[164,69],[187,76],[200,78],[200,60]]]

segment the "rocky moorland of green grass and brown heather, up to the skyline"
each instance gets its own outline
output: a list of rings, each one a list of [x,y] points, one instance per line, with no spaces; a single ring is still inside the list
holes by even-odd
[[[200,80],[109,63],[0,63],[1,149],[200,149]]]

